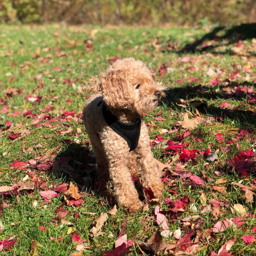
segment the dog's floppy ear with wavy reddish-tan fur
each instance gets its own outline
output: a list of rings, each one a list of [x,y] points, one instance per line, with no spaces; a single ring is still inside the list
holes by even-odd
[[[106,73],[102,73],[98,88],[109,107],[128,108],[132,103],[130,84],[120,69],[110,67]]]

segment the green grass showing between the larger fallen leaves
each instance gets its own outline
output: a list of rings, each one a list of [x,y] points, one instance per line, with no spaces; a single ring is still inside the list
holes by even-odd
[[[166,186],[164,197],[172,197],[174,201],[185,196],[189,198],[188,206],[178,219],[166,214],[169,229],[175,231],[180,228],[183,237],[188,232],[179,220],[190,215],[202,218],[199,229],[213,228],[220,220],[238,217],[232,207],[239,203],[250,213],[242,217],[246,220],[245,224],[242,227],[232,226],[215,233],[215,237],[199,242],[201,249],[198,255],[210,255],[212,250],[218,252],[229,239],[235,241],[229,253],[255,255],[255,242],[246,245],[241,239],[244,235],[255,236],[252,230],[256,225],[255,202],[246,203],[245,192],[232,185],[232,182],[238,181],[248,187],[255,185],[255,167],[247,170],[246,177],[228,162],[243,150],[255,152],[255,105],[246,101],[252,94],[247,91],[239,94],[239,90],[236,95],[234,93],[238,85],[253,86],[255,93],[253,39],[225,44],[217,37],[214,42],[205,41],[213,48],[201,49],[198,46],[195,52],[181,52],[182,47],[205,35],[210,28],[47,25],[1,26],[0,29],[0,186],[12,186],[19,181],[33,181],[36,185],[32,190],[24,189],[16,195],[2,196],[0,241],[6,237],[15,239],[6,255],[69,255],[76,251],[73,234],[85,239],[83,255],[102,255],[104,251],[113,249],[124,220],[124,234],[127,234],[127,239],[135,237],[135,241],[147,242],[159,228],[155,222],[154,205],[149,206],[146,212],[137,214],[127,214],[125,210],[118,209],[116,215],[109,215],[102,227],[102,235],[91,237],[94,219],[101,212],[109,211],[113,202],[107,199],[104,190],[97,184],[93,185],[95,162],[81,113],[84,102],[93,93],[90,90],[91,78],[104,71],[109,59],[115,58],[115,55],[141,59],[156,73],[165,63],[166,72],[157,79],[168,88],[167,97],[153,113],[143,117],[148,123],[150,138],[155,140],[160,134],[164,139],[181,143],[189,150],[198,150],[195,159],[181,161],[180,150],[164,150],[166,142],[152,147],[155,158],[161,162],[174,159],[171,163],[173,171],[191,172],[204,181],[204,186],[193,186],[189,178],[166,177],[169,186]],[[220,107],[224,102],[230,103],[231,110]],[[9,109],[3,111],[5,108]],[[162,114],[158,116],[160,110]],[[28,111],[32,114],[23,114]],[[69,111],[67,115],[65,111]],[[191,113],[189,118],[201,116],[208,122],[199,123],[184,138],[182,134],[187,129],[182,129],[178,122],[183,120],[187,111]],[[48,116],[43,116],[43,113]],[[38,115],[44,119],[37,119]],[[166,120],[157,121],[155,117]],[[8,130],[5,129],[7,120],[12,123]],[[252,133],[239,135],[240,129],[251,129]],[[12,140],[11,132],[18,138]],[[217,133],[223,135],[223,142],[216,140]],[[234,143],[231,142],[234,140]],[[217,161],[207,162],[199,153],[208,147],[218,154]],[[47,157],[45,161],[42,161],[42,156]],[[70,158],[65,162],[63,156]],[[34,161],[31,162],[31,159]],[[252,159],[255,160],[255,153]],[[28,166],[17,169],[11,167],[14,161],[30,162]],[[42,166],[38,166],[39,162],[42,162],[43,170]],[[55,166],[55,173],[51,171],[52,166]],[[214,183],[220,178],[226,179],[226,182],[221,185]],[[84,202],[78,206],[62,206],[68,211],[66,218],[69,221],[63,224],[57,217],[57,210],[64,202],[63,195],[51,198],[51,203],[47,203],[39,192],[54,190],[62,182],[69,184],[70,180],[77,183]],[[226,193],[214,190],[214,185],[225,187]],[[206,203],[202,203],[203,194]],[[211,199],[217,199],[226,206],[219,209],[212,207],[213,212],[203,214],[201,211],[205,205],[211,204]],[[191,207],[192,203],[196,210]],[[159,206],[163,210],[169,209],[164,200],[159,202]],[[43,231],[39,229],[42,226],[45,227]],[[192,230],[193,240],[196,229]],[[172,236],[165,240],[171,243],[175,238]],[[142,254],[136,243],[132,250],[132,255],[150,255],[147,252]]]

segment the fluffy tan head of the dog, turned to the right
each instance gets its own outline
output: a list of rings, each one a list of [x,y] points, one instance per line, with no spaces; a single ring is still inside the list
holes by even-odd
[[[153,72],[142,61],[117,60],[100,76],[99,89],[107,105],[135,113],[147,113],[165,95]]]

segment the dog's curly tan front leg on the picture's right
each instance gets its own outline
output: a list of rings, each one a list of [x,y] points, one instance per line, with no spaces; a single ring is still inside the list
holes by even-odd
[[[138,156],[142,186],[151,188],[155,197],[161,197],[164,185],[151,152],[148,129],[144,123],[141,124],[140,139],[135,152]]]

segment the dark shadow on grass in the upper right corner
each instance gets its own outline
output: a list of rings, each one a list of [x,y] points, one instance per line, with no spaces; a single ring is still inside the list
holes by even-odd
[[[206,52],[218,54],[236,54],[231,49],[225,52],[215,52],[214,49],[219,46],[228,46],[230,44],[238,43],[239,40],[252,39],[256,37],[256,23],[245,23],[233,27],[216,27],[209,33],[205,34],[197,41],[185,45],[180,53],[183,52]],[[211,41],[209,44],[208,42]],[[255,53],[250,53],[256,55]]]

